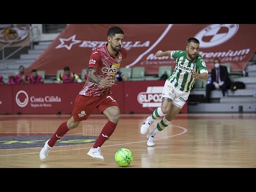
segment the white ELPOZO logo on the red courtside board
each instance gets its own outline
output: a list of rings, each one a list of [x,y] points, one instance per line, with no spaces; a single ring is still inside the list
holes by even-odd
[[[148,86],[146,92],[141,92],[137,96],[138,102],[145,107],[161,107],[163,86]]]

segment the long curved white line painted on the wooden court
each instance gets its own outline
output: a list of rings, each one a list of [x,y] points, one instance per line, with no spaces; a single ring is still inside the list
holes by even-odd
[[[181,127],[181,126],[177,126],[177,125],[172,125],[173,127],[178,127],[180,129],[183,130],[183,132],[178,133],[178,134],[174,134],[174,135],[170,135],[170,136],[166,136],[166,137],[161,137],[161,138],[156,138],[155,140],[160,140],[160,139],[166,139],[166,138],[171,138],[171,137],[175,137],[181,134],[186,133],[188,130],[185,127]],[[133,143],[140,143],[140,142],[145,142],[147,140],[143,140],[143,141],[134,141],[134,142],[127,142],[127,143],[119,143],[119,144],[115,144],[115,145],[107,145],[107,146],[101,146],[101,147],[113,147],[113,146],[120,146],[120,145],[128,145],[128,144],[133,144]],[[81,145],[81,144],[78,144]],[[69,146],[75,146],[75,145],[69,145]],[[55,147],[65,147],[65,146],[55,146]],[[54,147],[54,148],[55,148]],[[38,148],[38,147],[36,147]],[[35,149],[35,148],[23,148],[23,149]],[[63,150],[51,150],[52,152],[59,152],[59,151],[69,151],[69,150],[80,150],[80,149],[91,149],[91,147],[84,147],[84,148],[76,148],[76,149],[63,149]],[[9,149],[10,150],[10,149]],[[40,151],[39,151],[40,152]],[[22,153],[22,154],[9,154],[9,155],[0,155],[0,157],[4,157],[4,156],[13,156],[13,155],[29,155],[29,154],[39,154],[39,152],[34,152],[34,153]]]

